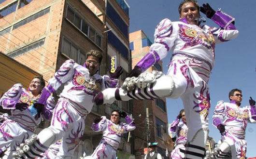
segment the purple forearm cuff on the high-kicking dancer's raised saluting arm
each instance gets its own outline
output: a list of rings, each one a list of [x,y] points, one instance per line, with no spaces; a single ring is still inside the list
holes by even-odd
[[[233,21],[235,21],[235,18],[228,15],[227,13],[217,11],[211,19],[218,26],[224,28],[225,30],[236,30],[235,25],[232,23]]]

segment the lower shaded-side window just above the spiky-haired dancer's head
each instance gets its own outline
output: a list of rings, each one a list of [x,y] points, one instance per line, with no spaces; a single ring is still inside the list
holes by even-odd
[[[63,37],[61,53],[73,59],[76,63],[84,65],[85,53],[82,53],[70,40]]]

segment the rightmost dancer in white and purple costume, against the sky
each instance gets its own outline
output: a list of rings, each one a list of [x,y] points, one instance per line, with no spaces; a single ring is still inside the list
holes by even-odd
[[[229,103],[219,101],[213,112],[213,125],[221,133],[222,144],[216,148],[213,159],[228,157],[232,151],[232,159],[245,159],[245,130],[247,123],[256,123],[255,101],[251,98],[251,106],[241,107],[242,91],[233,89],[229,92]],[[215,150],[213,151],[215,152]]]

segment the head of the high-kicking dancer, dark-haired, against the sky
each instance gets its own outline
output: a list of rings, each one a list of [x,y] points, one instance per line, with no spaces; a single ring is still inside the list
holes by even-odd
[[[198,19],[200,16],[199,10],[197,9],[196,5],[192,2],[186,2],[181,7],[181,14],[180,19],[186,18],[186,21],[189,24],[198,24]]]

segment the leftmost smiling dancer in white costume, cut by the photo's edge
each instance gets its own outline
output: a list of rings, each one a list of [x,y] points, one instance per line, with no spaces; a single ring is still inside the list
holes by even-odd
[[[42,118],[50,120],[55,107],[54,98],[49,96],[45,106],[38,103],[45,81],[41,76],[34,77],[28,91],[22,84],[14,86],[0,99],[3,109],[11,110],[12,115],[3,114],[0,123],[0,148],[10,147],[4,159],[12,159],[12,153],[21,143],[30,137]]]

